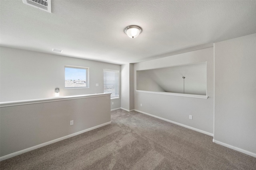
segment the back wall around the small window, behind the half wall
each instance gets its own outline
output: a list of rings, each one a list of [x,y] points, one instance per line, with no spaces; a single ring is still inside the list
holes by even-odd
[[[90,67],[90,88],[65,89],[64,65]],[[103,69],[120,71],[120,65],[0,47],[0,101],[54,97],[56,87],[60,96],[103,93]],[[115,108],[120,99],[111,105]]]

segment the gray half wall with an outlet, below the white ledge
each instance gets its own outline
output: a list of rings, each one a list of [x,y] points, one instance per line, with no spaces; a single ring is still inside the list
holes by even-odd
[[[0,156],[108,123],[109,103],[110,95],[104,95],[1,107]]]

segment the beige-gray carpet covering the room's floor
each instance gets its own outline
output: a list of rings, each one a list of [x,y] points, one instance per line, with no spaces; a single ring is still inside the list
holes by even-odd
[[[256,158],[212,137],[135,111],[112,123],[0,162],[1,170],[255,170]]]

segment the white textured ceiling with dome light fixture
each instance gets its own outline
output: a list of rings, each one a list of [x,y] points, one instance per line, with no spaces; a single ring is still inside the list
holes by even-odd
[[[22,0],[0,0],[0,45],[124,64],[256,33],[255,0],[52,0],[51,4],[48,13]],[[128,25],[143,31],[131,39],[124,34]]]

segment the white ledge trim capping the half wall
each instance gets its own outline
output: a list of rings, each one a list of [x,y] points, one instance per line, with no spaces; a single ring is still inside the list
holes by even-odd
[[[46,99],[7,101],[7,102],[0,102],[0,107],[29,105],[29,104],[35,104],[35,103],[46,103],[46,102],[53,102],[53,101],[64,101],[64,100],[82,99],[82,98],[90,98],[90,97],[100,97],[100,96],[108,96],[108,95],[110,96],[110,94],[111,93],[100,93],[100,94],[91,94],[91,95],[52,97],[52,98],[46,98]]]

